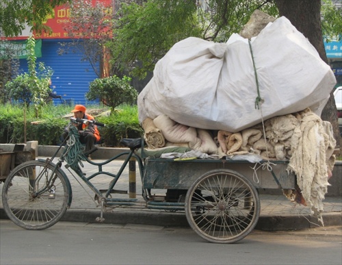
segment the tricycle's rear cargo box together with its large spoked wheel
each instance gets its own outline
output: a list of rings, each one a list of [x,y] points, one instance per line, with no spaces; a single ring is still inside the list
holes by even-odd
[[[196,233],[210,242],[236,242],[257,225],[260,200],[257,188],[291,188],[294,175],[286,161],[274,169],[259,168],[245,160],[145,160],[145,189],[167,189],[164,201],[147,201],[150,209],[185,210]],[[253,179],[254,177],[254,179]]]

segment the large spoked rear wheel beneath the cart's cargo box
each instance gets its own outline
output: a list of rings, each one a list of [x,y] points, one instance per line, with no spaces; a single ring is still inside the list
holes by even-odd
[[[252,183],[235,171],[209,171],[189,188],[185,214],[201,238],[214,243],[237,242],[257,225],[259,195]]]

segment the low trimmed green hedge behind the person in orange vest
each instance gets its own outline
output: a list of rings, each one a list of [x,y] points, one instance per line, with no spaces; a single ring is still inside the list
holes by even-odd
[[[87,106],[89,112],[107,110],[103,106]],[[26,112],[26,140],[38,140],[40,145],[60,144],[60,136],[68,125],[68,118],[73,107],[67,105],[48,105],[42,110],[42,117],[34,118],[34,109]],[[143,129],[137,119],[136,106],[122,106],[109,116],[99,116],[96,121],[105,123],[98,127],[103,146],[118,147],[121,138],[138,138],[143,136]],[[35,124],[32,124],[35,122]],[[0,105],[0,143],[24,142],[24,110],[21,105]]]

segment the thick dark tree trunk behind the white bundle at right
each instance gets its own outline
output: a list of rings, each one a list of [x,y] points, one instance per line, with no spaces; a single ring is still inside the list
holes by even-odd
[[[313,47],[318,51],[321,59],[328,63],[321,31],[321,0],[275,0],[275,2],[280,16],[288,18],[292,25],[308,38]],[[342,148],[339,124],[337,122],[337,108],[332,93],[333,90],[330,93],[330,99],[321,114],[321,118],[332,124],[337,146]]]

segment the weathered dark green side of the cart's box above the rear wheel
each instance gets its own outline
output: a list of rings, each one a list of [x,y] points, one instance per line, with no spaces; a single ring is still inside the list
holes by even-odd
[[[263,163],[265,161],[262,161]],[[294,189],[295,175],[287,172],[287,160],[272,161],[274,176],[281,188]],[[259,168],[254,175],[254,163],[245,160],[172,160],[146,158],[143,185],[148,189],[187,189],[198,177],[212,169],[226,168],[244,175],[255,188],[280,188],[272,171]],[[257,164],[257,167],[261,166]]]

